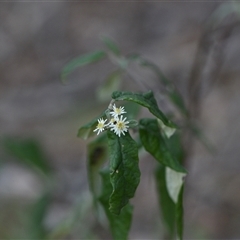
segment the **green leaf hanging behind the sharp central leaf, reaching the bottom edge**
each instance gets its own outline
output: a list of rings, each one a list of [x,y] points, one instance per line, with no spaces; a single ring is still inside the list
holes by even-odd
[[[110,182],[110,172],[108,169],[104,169],[100,174],[102,177],[102,193],[99,197],[99,201],[101,202],[108,218],[113,239],[127,239],[131,227],[133,207],[130,204],[127,204],[122,209],[120,215],[112,214],[109,211],[109,197],[113,190]]]

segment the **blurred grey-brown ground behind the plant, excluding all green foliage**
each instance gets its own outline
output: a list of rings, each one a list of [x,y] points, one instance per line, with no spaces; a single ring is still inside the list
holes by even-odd
[[[186,79],[204,21],[218,5],[0,3],[0,134],[35,137],[51,159],[57,184],[55,203],[46,219],[48,228],[64,218],[71,204],[88,189],[86,142],[76,133],[104,108],[94,94],[112,69],[107,62],[79,69],[64,86],[59,80],[64,64],[101,48],[99,37],[107,35],[124,53],[139,52],[154,61],[186,94]],[[237,28],[227,39],[217,84],[203,95],[200,122],[217,151],[211,155],[197,144],[188,162],[186,239],[240,238],[239,37]],[[141,162],[132,239],[156,239],[161,231],[150,160]],[[0,203],[4,206],[14,199],[31,202],[41,190],[38,178],[12,159],[0,169]],[[0,215],[2,222],[15,222],[8,209]]]

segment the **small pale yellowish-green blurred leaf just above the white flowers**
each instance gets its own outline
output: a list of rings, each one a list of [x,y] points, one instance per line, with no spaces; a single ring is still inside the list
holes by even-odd
[[[97,96],[100,101],[109,101],[111,94],[120,87],[122,72],[117,70],[107,76],[104,84],[97,90]]]

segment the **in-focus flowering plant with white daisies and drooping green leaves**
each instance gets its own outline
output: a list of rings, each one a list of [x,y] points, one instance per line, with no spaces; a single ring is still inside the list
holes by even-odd
[[[138,54],[122,56],[114,42],[108,38],[103,41],[107,51],[80,56],[66,65],[62,72],[65,80],[75,68],[107,57],[118,68],[98,91],[100,98],[109,99],[106,108],[78,131],[78,137],[82,139],[94,137],[87,147],[87,168],[96,211],[99,205],[103,207],[113,239],[127,239],[133,213],[129,200],[134,197],[140,182],[139,150],[145,149],[157,161],[154,177],[160,212],[166,226],[164,235],[170,239],[177,235],[178,239],[182,239],[183,177],[186,170],[181,164],[184,157],[181,131],[173,118],[160,110],[153,91],[116,91],[122,73],[128,73],[132,62],[151,69],[180,114],[187,118],[188,112],[175,86],[155,64]],[[142,108],[148,109],[151,117],[138,119]]]

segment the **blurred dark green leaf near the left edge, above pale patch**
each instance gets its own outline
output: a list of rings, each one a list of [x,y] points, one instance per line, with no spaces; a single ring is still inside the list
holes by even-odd
[[[24,164],[38,169],[45,174],[49,174],[51,172],[48,159],[36,140],[22,140],[8,137],[3,140],[3,147],[6,152]]]

